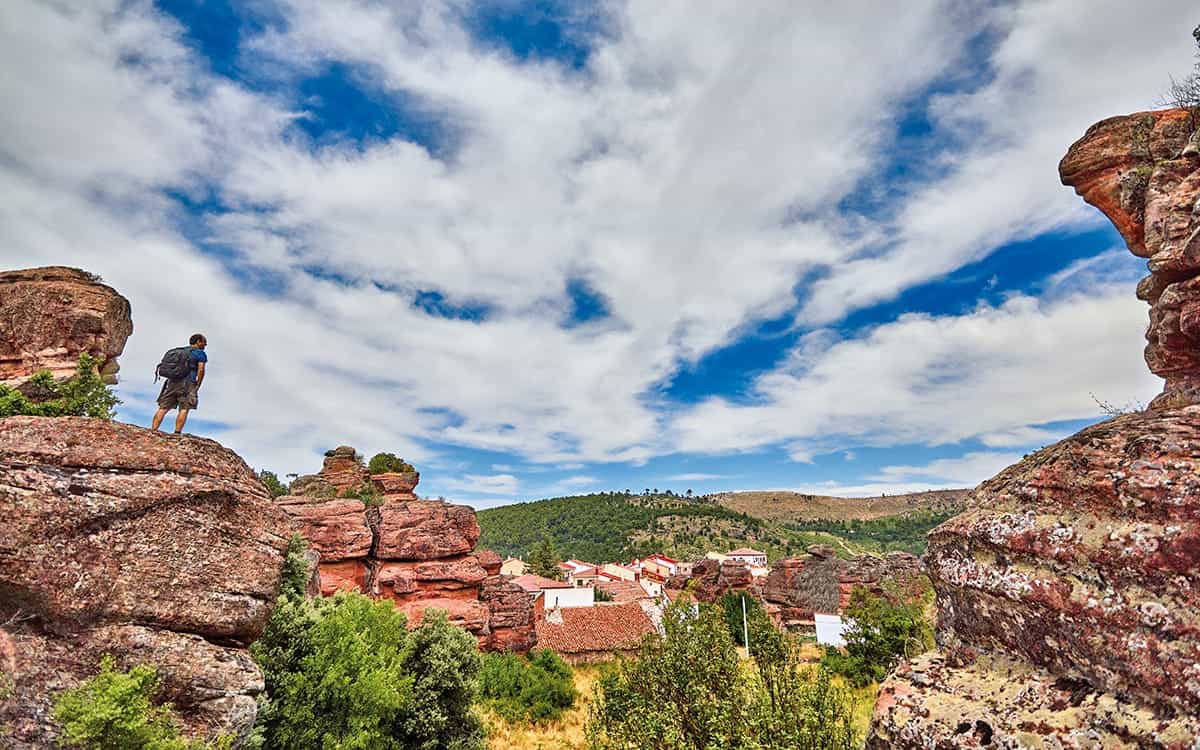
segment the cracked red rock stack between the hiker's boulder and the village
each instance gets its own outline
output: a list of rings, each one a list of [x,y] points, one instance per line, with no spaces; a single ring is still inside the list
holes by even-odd
[[[413,624],[425,610],[445,610],[482,648],[528,650],[533,602],[499,575],[499,557],[475,551],[475,511],[416,499],[418,480],[415,472],[368,475],[354,449],[342,446],[320,473],[293,482],[298,494],[277,502],[320,553],[323,594],[348,589],[391,599]],[[378,504],[346,497],[364,487]]]

